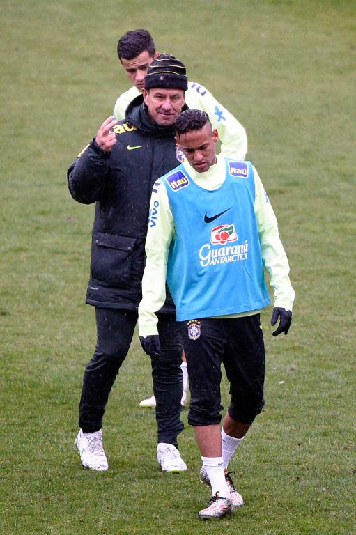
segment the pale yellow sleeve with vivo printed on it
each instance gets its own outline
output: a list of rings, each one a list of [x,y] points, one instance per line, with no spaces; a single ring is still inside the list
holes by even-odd
[[[174,224],[167,190],[157,180],[150,199],[150,218],[146,237],[146,267],[142,279],[142,300],[139,304],[139,336],[158,334],[157,316],[166,300],[166,275],[169,245]]]

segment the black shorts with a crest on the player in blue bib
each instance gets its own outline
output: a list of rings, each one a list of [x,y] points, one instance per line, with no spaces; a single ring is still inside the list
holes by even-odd
[[[264,405],[265,346],[260,315],[183,322],[192,426],[219,424],[221,364],[230,383],[229,415],[251,424]]]

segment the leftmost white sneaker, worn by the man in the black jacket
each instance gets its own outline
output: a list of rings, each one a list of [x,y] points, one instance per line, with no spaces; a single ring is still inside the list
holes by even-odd
[[[89,470],[99,470],[100,472],[107,470],[107,456],[102,447],[102,431],[95,431],[95,433],[88,433],[84,436],[82,429],[80,429],[75,444],[78,448],[80,460],[84,468]]]

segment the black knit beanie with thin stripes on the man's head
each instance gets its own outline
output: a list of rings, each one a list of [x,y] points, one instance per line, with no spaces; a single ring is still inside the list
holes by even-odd
[[[183,89],[187,91],[188,79],[185,65],[171,54],[160,54],[147,69],[145,89]]]

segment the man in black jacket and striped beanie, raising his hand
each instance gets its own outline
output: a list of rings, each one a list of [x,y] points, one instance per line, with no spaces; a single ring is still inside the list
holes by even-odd
[[[86,302],[95,307],[98,339],[84,371],[75,440],[82,465],[91,470],[108,468],[102,417],[137,322],[150,194],[157,178],[181,161],[173,123],[185,107],[186,89],[183,63],[161,54],[148,69],[144,104],[132,102],[124,121],[107,118],[68,170],[72,197],[96,203]],[[153,348],[151,356],[157,460],[164,472],[183,472],[177,444],[183,430],[182,346],[170,297],[157,316],[161,352]]]

